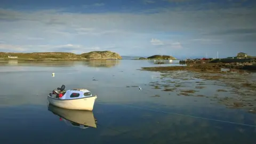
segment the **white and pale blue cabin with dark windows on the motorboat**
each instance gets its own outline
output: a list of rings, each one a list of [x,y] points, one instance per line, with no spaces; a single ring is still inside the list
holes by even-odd
[[[59,98],[61,100],[80,99],[85,97],[92,97],[92,93],[86,89],[67,90],[65,94]]]

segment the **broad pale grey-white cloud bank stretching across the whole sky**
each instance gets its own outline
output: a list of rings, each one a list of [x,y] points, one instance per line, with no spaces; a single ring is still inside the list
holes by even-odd
[[[169,46],[177,48],[178,51],[183,46],[199,49],[202,43],[236,43],[237,40],[234,41],[234,39],[243,41],[244,35],[236,33],[232,37],[227,37],[220,33],[211,34],[227,29],[255,29],[256,11],[253,9],[246,9],[246,7],[206,9],[207,7],[211,5],[144,9],[137,13],[71,13],[63,12],[63,9],[24,12],[0,9],[0,40],[13,50],[15,48],[43,51],[39,45],[46,44],[44,51],[56,50],[58,46],[66,44],[73,45],[66,45],[70,50],[90,50],[90,47],[108,50],[110,45],[115,45],[114,47],[119,47],[118,50],[115,49],[116,51],[125,54],[134,45],[143,48],[150,46],[150,43],[152,51],[156,46]],[[146,14],[152,11],[157,13]],[[175,33],[180,35],[175,37]],[[174,36],[171,37],[171,35]],[[246,35],[247,41],[251,39],[253,43],[253,35],[255,36],[255,34]],[[249,36],[251,38],[248,38]],[[151,39],[152,37],[158,39]],[[148,39],[151,39],[150,43]],[[169,42],[170,39],[171,42]],[[214,39],[221,39],[221,41]],[[0,44],[3,43],[0,42]],[[242,46],[235,46],[237,49],[243,49]],[[222,47],[227,46],[222,45]]]

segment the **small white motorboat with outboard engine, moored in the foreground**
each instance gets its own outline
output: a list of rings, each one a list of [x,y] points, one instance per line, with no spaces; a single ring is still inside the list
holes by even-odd
[[[92,95],[86,89],[73,89],[65,91],[65,85],[53,90],[47,97],[49,103],[65,109],[93,110],[97,95]]]

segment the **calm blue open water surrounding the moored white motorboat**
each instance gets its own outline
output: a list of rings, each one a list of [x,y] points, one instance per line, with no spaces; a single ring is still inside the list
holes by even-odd
[[[255,143],[256,127],[198,118],[256,125],[255,114],[152,89],[150,82],[158,81],[159,74],[137,70],[147,66],[155,65],[135,60],[0,62],[0,143]],[[72,126],[60,119],[58,108],[47,107],[47,94],[62,84],[98,95],[89,114],[97,128]],[[151,97],[156,94],[161,97]],[[61,113],[81,119],[72,111]]]

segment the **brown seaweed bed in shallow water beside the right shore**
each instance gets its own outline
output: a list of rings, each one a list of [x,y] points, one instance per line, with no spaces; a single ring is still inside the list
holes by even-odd
[[[245,109],[249,113],[256,114],[255,73],[241,70],[231,70],[223,73],[221,67],[215,65],[146,67],[142,70],[158,71],[160,73],[160,81],[151,82],[152,89],[178,92],[178,96],[211,98],[211,101],[226,105],[227,108]],[[186,86],[186,84],[189,84],[189,86]],[[191,85],[194,85],[193,89],[191,89]],[[211,85],[224,88],[217,89],[217,94],[213,96],[197,94],[200,90]],[[160,97],[160,95],[154,97]]]

